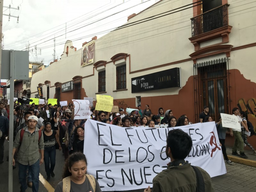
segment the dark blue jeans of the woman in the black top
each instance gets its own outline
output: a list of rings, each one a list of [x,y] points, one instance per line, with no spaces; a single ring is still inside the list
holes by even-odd
[[[47,176],[50,176],[55,167],[56,148],[44,148],[44,168]],[[51,168],[50,168],[51,163]]]

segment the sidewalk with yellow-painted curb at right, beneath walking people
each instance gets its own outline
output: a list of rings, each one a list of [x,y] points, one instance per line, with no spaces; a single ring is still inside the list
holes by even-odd
[[[239,156],[232,155],[231,147],[226,146],[226,148],[227,148],[228,158],[231,161],[233,161],[235,163],[240,163],[240,164],[256,167],[256,155],[252,155],[252,150],[250,150],[250,151],[244,150],[245,155],[248,156],[248,159],[244,159],[244,158],[240,158]]]

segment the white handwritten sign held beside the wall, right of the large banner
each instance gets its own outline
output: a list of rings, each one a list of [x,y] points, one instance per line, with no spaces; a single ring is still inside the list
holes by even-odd
[[[229,115],[225,113],[220,113],[222,127],[232,128],[236,131],[241,131],[241,124],[238,117],[235,115]]]

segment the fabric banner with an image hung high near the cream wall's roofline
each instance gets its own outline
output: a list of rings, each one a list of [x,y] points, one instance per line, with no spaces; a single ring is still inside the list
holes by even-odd
[[[85,44],[82,48],[82,66],[89,65],[93,63],[94,58],[94,50],[95,50],[95,41],[91,41]]]

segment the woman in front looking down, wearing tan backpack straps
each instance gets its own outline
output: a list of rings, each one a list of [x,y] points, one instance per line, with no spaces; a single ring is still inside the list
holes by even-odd
[[[60,181],[54,192],[62,191],[93,191],[101,192],[98,181],[92,176],[87,175],[87,160],[83,153],[71,154],[64,167]]]

